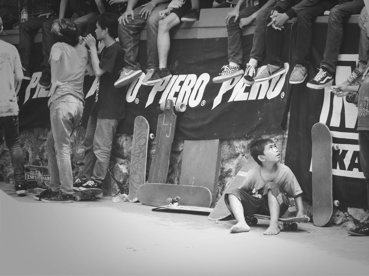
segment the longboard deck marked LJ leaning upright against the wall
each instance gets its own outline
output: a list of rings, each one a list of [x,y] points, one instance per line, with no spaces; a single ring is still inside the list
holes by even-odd
[[[155,155],[152,159],[148,183],[166,183],[176,120],[177,116],[173,112],[173,101],[167,100],[164,112],[158,116]]]

